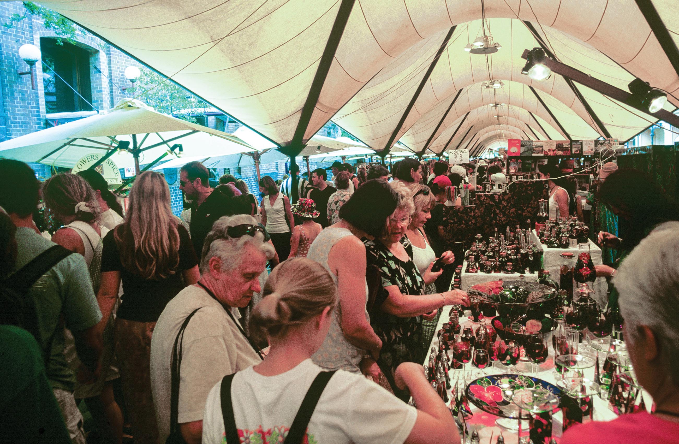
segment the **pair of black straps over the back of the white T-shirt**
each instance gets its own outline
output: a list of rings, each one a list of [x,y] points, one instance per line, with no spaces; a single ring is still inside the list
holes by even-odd
[[[297,415],[290,426],[290,430],[285,437],[283,444],[301,444],[306,434],[306,429],[309,426],[311,415],[314,414],[316,404],[320,395],[323,394],[325,386],[327,386],[330,378],[333,377],[335,371],[321,371],[316,375],[314,382],[311,383],[309,390],[301,401]],[[234,406],[231,399],[231,384],[234,380],[234,375],[226,375],[221,380],[220,397],[221,397],[221,415],[224,420],[224,432],[226,444],[238,444],[238,429],[236,428],[236,419],[234,418]]]

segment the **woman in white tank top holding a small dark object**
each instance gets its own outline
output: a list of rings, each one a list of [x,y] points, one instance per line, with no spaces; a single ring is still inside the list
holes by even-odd
[[[437,293],[435,281],[441,278],[443,274],[443,266],[437,267],[438,270],[433,271],[432,267],[437,260],[436,253],[434,253],[429,239],[424,234],[424,224],[431,219],[431,208],[435,206],[436,200],[434,193],[426,185],[417,184],[410,188],[413,193],[413,204],[415,211],[410,219],[410,225],[405,230],[405,238],[410,243],[412,248],[412,259],[418,271],[422,274],[424,279],[424,294],[433,295]],[[452,251],[445,251],[440,256],[442,261],[439,265],[448,265],[455,261],[455,255]],[[448,282],[448,286],[450,282]],[[441,310],[425,314],[422,316],[422,346],[426,351],[431,339],[434,337],[437,322],[439,322],[439,314]]]

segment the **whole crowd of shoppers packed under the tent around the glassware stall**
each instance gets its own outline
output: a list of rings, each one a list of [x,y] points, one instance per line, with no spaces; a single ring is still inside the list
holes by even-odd
[[[466,171],[435,162],[427,186],[428,168],[410,158],[391,178],[382,166],[333,167],[334,186],[314,170],[292,205],[262,177],[259,204],[243,181],[225,175],[213,189],[208,170],[189,162],[180,172],[187,228],[160,173],[136,177],[122,214],[92,170],[40,184],[28,165],[0,160],[0,188],[15,191],[0,193],[0,341],[16,357],[0,354],[3,441],[85,443],[84,401],[101,442],[122,441],[125,407],[140,444],[459,443],[422,361],[441,308],[470,303],[433,270],[454,262],[445,188]],[[574,204],[558,171],[541,173],[555,208]],[[598,199],[625,223],[600,241],[624,261],[619,276],[597,272],[614,276],[609,305],[629,319],[640,384],[657,396],[640,428],[674,433],[679,384],[667,365],[679,334],[669,309],[679,228],[666,221],[679,220],[679,207],[640,172],[605,179]],[[52,240],[33,219],[40,201],[59,227]],[[411,396],[416,407],[403,402]],[[585,427],[564,442],[595,435]]]

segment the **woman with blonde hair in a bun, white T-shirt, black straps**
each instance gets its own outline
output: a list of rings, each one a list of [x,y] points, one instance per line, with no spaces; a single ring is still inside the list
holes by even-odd
[[[269,353],[210,390],[203,444],[460,442],[450,411],[421,365],[403,363],[397,369],[397,384],[409,388],[416,409],[361,375],[326,372],[312,362],[338,300],[335,281],[323,265],[306,257],[288,259],[274,268],[263,295],[250,328],[268,338]],[[308,392],[318,395],[316,403],[305,399]],[[304,414],[308,420],[299,422]]]

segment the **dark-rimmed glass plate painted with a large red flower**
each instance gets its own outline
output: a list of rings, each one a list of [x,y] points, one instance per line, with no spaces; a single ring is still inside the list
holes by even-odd
[[[526,388],[540,388],[557,396],[562,390],[547,381],[525,375],[487,375],[473,380],[466,388],[467,399],[486,413],[517,418],[519,408],[514,404],[515,392]],[[522,411],[521,418],[528,419],[528,412]]]

